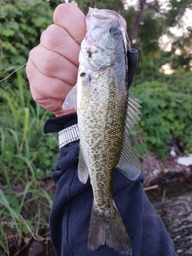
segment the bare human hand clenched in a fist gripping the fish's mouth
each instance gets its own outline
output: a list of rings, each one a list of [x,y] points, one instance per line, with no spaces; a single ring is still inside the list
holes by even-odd
[[[77,81],[81,37],[87,32],[86,17],[76,5],[65,3],[57,6],[53,20],[54,24],[41,34],[40,44],[31,50],[26,73],[34,100],[62,116],[76,112],[62,110],[62,104]],[[121,20],[126,27],[125,20]]]

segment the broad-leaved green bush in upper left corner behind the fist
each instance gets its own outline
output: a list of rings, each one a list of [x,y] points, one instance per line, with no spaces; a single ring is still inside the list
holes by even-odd
[[[39,44],[41,32],[53,23],[53,9],[58,4],[59,0],[1,0],[0,77],[27,62],[30,49]]]

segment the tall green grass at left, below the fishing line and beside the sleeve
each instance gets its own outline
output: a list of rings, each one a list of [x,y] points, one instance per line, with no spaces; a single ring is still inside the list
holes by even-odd
[[[22,72],[13,83],[0,84],[0,255],[19,252],[31,239],[50,240],[54,194],[43,183],[53,171],[58,142],[42,132],[49,117],[32,100]]]

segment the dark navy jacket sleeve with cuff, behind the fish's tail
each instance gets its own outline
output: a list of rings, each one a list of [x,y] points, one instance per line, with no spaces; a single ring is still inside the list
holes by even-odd
[[[45,133],[59,132],[77,123],[76,114],[50,118]],[[58,256],[120,256],[108,246],[87,249],[93,191],[88,179],[82,184],[77,176],[79,140],[61,147],[54,165],[56,194],[50,215],[51,239]],[[114,175],[114,201],[133,246],[133,256],[177,255],[162,221],[143,191],[141,173],[136,181],[119,170]]]

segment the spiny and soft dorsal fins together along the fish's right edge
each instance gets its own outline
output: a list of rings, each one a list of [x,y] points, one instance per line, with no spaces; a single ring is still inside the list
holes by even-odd
[[[137,124],[137,119],[140,119],[138,115],[141,114],[141,112],[138,110],[138,108],[141,108],[141,106],[137,102],[138,100],[138,98],[133,96],[133,93],[128,92],[124,141],[120,159],[118,165],[116,166],[117,169],[119,169],[131,180],[136,180],[141,172],[139,160],[129,139],[130,132],[132,129],[135,129],[134,125]]]

